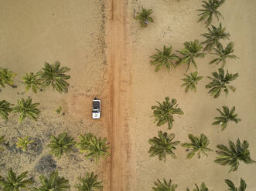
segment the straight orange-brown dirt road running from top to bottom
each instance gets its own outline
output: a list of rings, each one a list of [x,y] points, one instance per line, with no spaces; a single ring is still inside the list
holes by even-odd
[[[125,0],[107,1],[107,62],[111,67],[111,141],[110,179],[107,190],[125,190],[128,175],[127,89],[128,66],[125,63]]]

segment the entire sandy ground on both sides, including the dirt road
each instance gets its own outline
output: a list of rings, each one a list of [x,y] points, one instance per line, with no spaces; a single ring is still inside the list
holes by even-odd
[[[212,99],[204,88],[209,80],[207,75],[216,71],[216,65],[208,62],[213,56],[198,59],[198,72],[204,75],[197,92],[185,93],[180,88],[186,66],[174,71],[161,69],[154,72],[149,65],[149,56],[155,49],[172,43],[174,49],[183,47],[183,42],[199,39],[206,32],[203,23],[197,23],[196,0],[118,0],[105,1],[107,6],[108,47],[104,54],[104,2],[103,0],[76,1],[0,1],[0,36],[2,67],[18,73],[18,89],[3,89],[0,96],[9,102],[31,96],[40,102],[42,114],[38,122],[26,120],[19,124],[17,116],[9,122],[1,122],[1,134],[6,135],[9,146],[0,159],[0,174],[12,167],[21,173],[29,170],[31,176],[40,172],[49,173],[59,169],[60,175],[70,179],[73,186],[77,176],[87,171],[96,171],[104,181],[104,190],[151,190],[155,179],[172,179],[179,185],[178,190],[192,188],[194,183],[204,181],[210,190],[224,190],[224,179],[238,184],[242,177],[247,190],[255,190],[255,165],[244,165],[235,173],[228,173],[227,166],[213,163],[214,152],[207,158],[186,159],[186,151],[178,146],[178,159],[168,157],[166,163],[148,157],[148,139],[157,135],[158,130],[176,133],[176,139],[187,141],[187,134],[205,133],[210,138],[210,148],[219,143],[227,144],[228,139],[237,137],[250,143],[251,156],[256,159],[256,131],[254,128],[255,106],[255,5],[253,0],[226,2],[221,8],[235,42],[235,54],[240,58],[229,61],[230,72],[239,72],[234,82],[237,92]],[[141,6],[152,8],[155,23],[140,28],[133,19],[133,10]],[[235,14],[234,14],[235,13]],[[106,59],[105,59],[106,57]],[[60,61],[71,71],[70,91],[67,94],[46,92],[32,94],[24,92],[20,78],[26,72],[36,72],[43,62]],[[192,71],[192,69],[190,69]],[[19,92],[19,95],[17,94]],[[99,121],[90,119],[91,99],[99,96],[103,101],[103,116]],[[176,116],[172,130],[166,126],[156,127],[151,117],[155,100],[162,101],[168,95],[178,100],[185,112]],[[56,115],[55,109],[63,106],[65,116]],[[220,106],[236,106],[242,121],[230,123],[221,132],[212,126]],[[128,115],[128,116],[127,116]],[[128,117],[128,118],[127,118]],[[77,135],[94,132],[108,136],[113,147],[111,158],[99,164],[90,163],[77,152],[56,160],[48,157],[49,135],[67,131],[77,140]],[[32,136],[37,140],[29,152],[15,149],[17,136]],[[128,145],[129,144],[129,145]],[[40,160],[48,157],[46,168]],[[41,167],[39,167],[41,166]],[[47,172],[48,171],[48,172]],[[36,180],[38,180],[36,178]],[[73,189],[73,187],[72,187]]]

